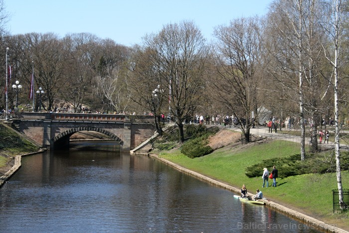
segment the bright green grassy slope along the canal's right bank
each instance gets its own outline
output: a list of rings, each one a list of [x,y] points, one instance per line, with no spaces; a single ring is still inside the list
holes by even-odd
[[[337,189],[336,174],[307,174],[278,179],[278,187],[262,188],[262,172],[258,178],[248,178],[245,168],[262,160],[299,154],[299,144],[288,141],[269,141],[268,143],[251,143],[247,146],[226,146],[213,153],[190,159],[179,150],[157,152],[161,158],[172,161],[182,167],[206,175],[215,180],[241,187],[245,184],[248,192],[256,189],[263,192],[267,199],[282,204],[293,210],[317,218],[328,224],[337,224],[349,230],[348,213],[333,214],[332,190]],[[280,168],[279,168],[280,169]],[[268,168],[271,170],[271,168]],[[269,180],[270,181],[270,180]],[[343,171],[344,188],[349,188],[349,172]],[[272,185],[272,181],[269,186]]]

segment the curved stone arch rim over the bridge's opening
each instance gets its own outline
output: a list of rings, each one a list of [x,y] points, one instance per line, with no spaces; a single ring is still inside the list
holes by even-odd
[[[75,128],[71,128],[68,129],[66,131],[63,131],[59,134],[57,134],[54,138],[53,138],[53,143],[59,142],[63,139],[69,138],[71,135],[73,135],[76,132],[79,131],[95,131],[95,132],[99,132],[102,133],[104,135],[109,136],[110,138],[112,138],[113,140],[117,141],[121,146],[124,145],[124,141],[121,140],[117,135],[105,130],[105,129],[101,129],[95,126],[80,126],[80,127],[75,127]]]

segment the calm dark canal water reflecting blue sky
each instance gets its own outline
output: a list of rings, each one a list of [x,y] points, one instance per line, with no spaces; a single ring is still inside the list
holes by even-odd
[[[0,188],[0,232],[316,232],[108,142],[72,145],[22,158]]]

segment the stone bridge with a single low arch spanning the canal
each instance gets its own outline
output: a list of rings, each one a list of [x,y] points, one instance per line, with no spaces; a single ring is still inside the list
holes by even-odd
[[[70,136],[79,131],[95,131],[130,151],[154,135],[154,116],[90,113],[23,112],[12,119],[12,127],[45,148],[69,145]]]

